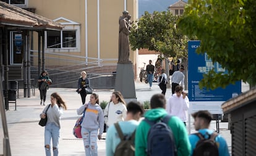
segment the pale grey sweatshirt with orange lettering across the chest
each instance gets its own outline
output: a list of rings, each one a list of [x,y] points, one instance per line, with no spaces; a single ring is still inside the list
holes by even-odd
[[[100,107],[100,105],[95,104],[92,105],[90,102],[88,104],[82,105],[79,109],[77,109],[77,114],[82,115],[83,110],[85,110],[85,107],[87,107],[85,112],[85,117],[83,118],[83,122],[81,126],[85,129],[92,129],[92,130],[98,130],[100,128],[99,134],[103,134],[104,129],[104,117],[103,117],[103,111]]]

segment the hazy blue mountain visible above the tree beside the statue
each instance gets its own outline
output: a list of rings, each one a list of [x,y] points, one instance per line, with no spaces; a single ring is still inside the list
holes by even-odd
[[[177,1],[178,0],[139,0],[139,17],[144,15],[145,11],[152,14],[154,11],[161,12],[168,10],[168,7]]]

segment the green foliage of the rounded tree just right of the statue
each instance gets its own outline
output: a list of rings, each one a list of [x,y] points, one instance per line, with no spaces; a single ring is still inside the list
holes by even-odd
[[[144,48],[170,57],[187,57],[188,38],[176,28],[178,18],[170,11],[145,12],[132,25],[130,46],[133,50]]]

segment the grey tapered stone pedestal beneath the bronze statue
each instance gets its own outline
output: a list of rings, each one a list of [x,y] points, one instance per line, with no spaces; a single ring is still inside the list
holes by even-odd
[[[130,101],[137,101],[132,63],[117,63],[116,85],[114,90],[121,92],[126,104]]]

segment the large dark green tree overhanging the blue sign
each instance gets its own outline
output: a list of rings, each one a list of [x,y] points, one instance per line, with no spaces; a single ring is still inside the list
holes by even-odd
[[[225,88],[243,80],[256,84],[256,1],[189,0],[178,28],[201,41],[198,54],[207,52],[213,62],[228,70],[203,75],[199,85]]]

